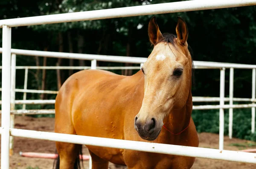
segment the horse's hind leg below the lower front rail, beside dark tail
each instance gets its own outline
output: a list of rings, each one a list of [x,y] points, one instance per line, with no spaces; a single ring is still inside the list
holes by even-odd
[[[60,156],[60,166],[59,169],[76,169],[79,165],[79,151],[81,150],[81,145],[56,142],[56,148]],[[77,159],[78,158],[78,159]]]

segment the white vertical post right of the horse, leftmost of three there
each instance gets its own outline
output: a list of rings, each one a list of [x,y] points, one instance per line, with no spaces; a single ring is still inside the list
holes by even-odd
[[[225,92],[225,68],[221,69],[220,77],[220,106],[224,105],[224,92]],[[224,109],[220,108],[219,118],[219,149],[223,149],[224,142]]]

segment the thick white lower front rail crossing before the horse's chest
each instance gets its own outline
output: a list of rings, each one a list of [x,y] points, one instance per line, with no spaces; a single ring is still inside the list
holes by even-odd
[[[81,135],[68,135],[54,132],[40,132],[22,129],[10,129],[13,136],[35,138],[49,141],[61,141],[90,146],[104,146],[118,149],[131,149],[144,152],[155,152],[171,155],[182,155],[215,160],[256,163],[255,153],[238,152],[220,149],[199,148],[191,146],[178,146],[140,141],[119,140],[113,138],[98,138]]]

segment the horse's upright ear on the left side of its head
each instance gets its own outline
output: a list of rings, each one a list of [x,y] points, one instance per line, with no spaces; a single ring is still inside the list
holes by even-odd
[[[153,45],[155,45],[159,39],[163,38],[157,25],[156,17],[152,17],[148,23],[148,37]]]

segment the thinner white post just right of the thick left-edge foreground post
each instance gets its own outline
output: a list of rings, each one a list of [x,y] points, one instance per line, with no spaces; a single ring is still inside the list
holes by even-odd
[[[16,54],[11,57],[11,110],[15,110],[15,78],[16,78]],[[15,115],[10,116],[10,128],[14,128]],[[13,137],[10,136],[9,153],[13,155]]]

